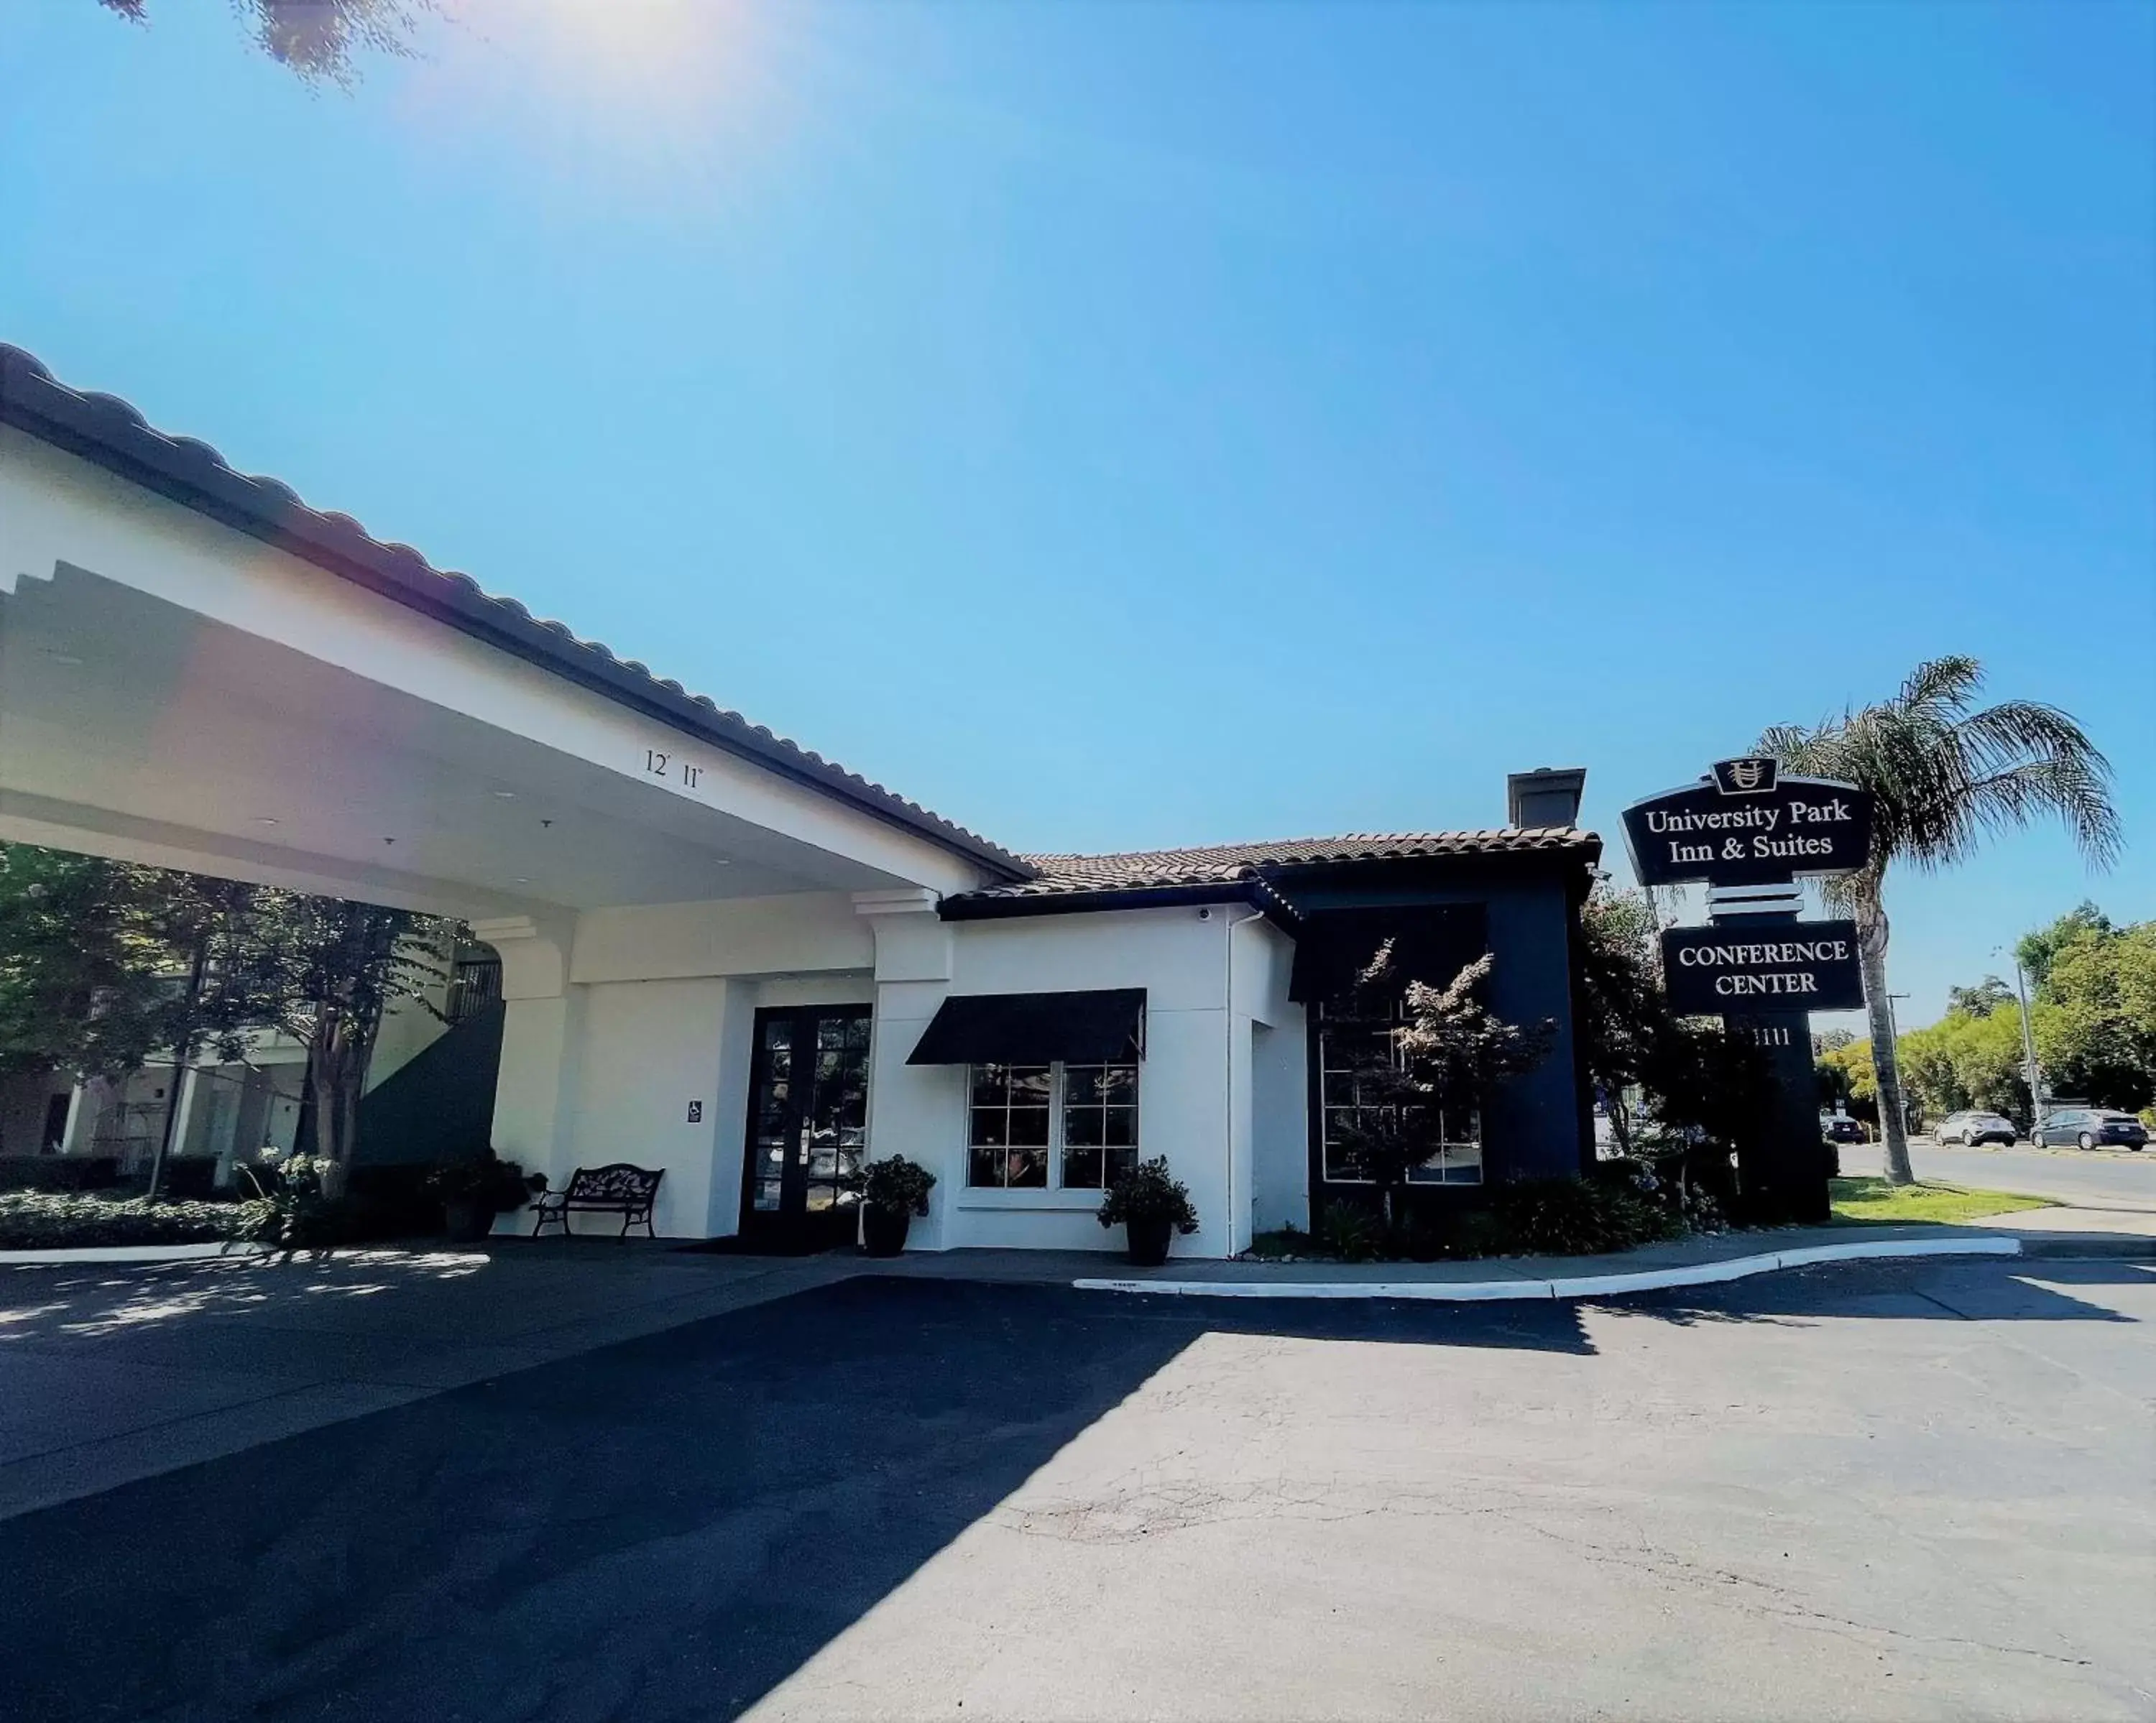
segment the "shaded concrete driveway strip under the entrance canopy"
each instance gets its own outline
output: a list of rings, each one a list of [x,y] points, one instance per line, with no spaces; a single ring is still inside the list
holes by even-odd
[[[841,1272],[606,1240],[6,1268],[0,1518]]]

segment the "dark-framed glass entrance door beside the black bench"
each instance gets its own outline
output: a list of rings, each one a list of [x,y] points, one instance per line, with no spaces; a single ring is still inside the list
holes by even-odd
[[[849,1244],[869,1147],[869,1007],[757,1011],[742,1167],[742,1238],[778,1249]]]

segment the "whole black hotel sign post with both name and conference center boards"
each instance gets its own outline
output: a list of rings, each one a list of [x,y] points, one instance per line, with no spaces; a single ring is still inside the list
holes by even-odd
[[[1772,759],[1725,759],[1628,807],[1623,835],[1643,886],[1708,886],[1708,925],[1662,932],[1671,1009],[1720,1016],[1772,1061],[1774,1117],[1738,1156],[1746,1203],[1759,1218],[1824,1221],[1809,1014],[1858,1009],[1865,983],[1856,923],[1802,921],[1798,880],[1869,860],[1871,794],[1783,776]]]

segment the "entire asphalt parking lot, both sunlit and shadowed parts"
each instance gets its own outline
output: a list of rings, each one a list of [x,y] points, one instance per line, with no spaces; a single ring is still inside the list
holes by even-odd
[[[0,1520],[0,1717],[2145,1719],[2152,1318],[849,1279]]]

